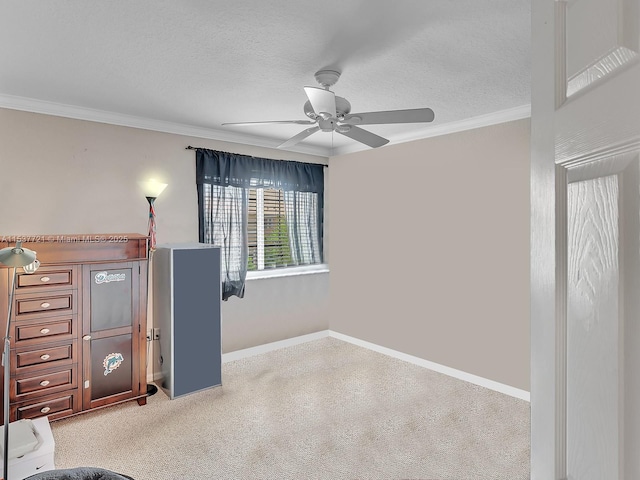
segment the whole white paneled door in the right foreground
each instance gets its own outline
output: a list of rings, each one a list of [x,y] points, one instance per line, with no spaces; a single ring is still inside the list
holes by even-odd
[[[531,478],[640,479],[640,0],[531,4]]]

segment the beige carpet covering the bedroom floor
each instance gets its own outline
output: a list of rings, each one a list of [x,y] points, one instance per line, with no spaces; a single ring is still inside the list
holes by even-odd
[[[52,423],[57,468],[156,479],[528,479],[529,404],[325,338],[223,386]]]

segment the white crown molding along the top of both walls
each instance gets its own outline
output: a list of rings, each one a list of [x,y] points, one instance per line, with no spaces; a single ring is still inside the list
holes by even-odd
[[[222,142],[242,143],[245,145],[253,145],[256,147],[275,149],[280,143],[273,139],[255,135],[244,135],[236,132],[196,127],[193,125],[166,122],[164,120],[154,120],[150,118],[126,115],[122,113],[78,107],[75,105],[66,105],[62,103],[48,102],[45,100],[37,100],[33,98],[18,97],[13,95],[0,94],[0,108],[41,113],[44,115],[73,118],[76,120],[86,120],[90,122],[106,123],[110,125],[119,125],[123,127],[140,128],[143,130],[172,133],[176,135],[184,135],[187,137],[206,138]],[[393,138],[390,138],[390,142],[388,145],[396,145],[398,143],[411,142],[414,140],[422,140],[439,135],[462,132],[464,130],[487,127],[499,123],[521,120],[530,116],[531,105],[522,105],[520,107],[501,110],[498,112],[490,113],[487,115],[480,115],[457,122],[449,122],[441,125],[431,125],[422,130],[413,131],[406,135],[394,135]],[[321,157],[333,157],[367,149],[368,147],[366,147],[365,145],[354,143],[353,145],[334,149],[316,145],[297,144],[287,150],[308,155],[317,155]]]

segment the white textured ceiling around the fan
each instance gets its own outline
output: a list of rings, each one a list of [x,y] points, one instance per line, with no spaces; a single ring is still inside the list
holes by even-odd
[[[530,0],[3,0],[0,65],[0,107],[263,146],[305,127],[221,124],[305,120],[303,87],[333,68],[354,113],[434,110],[431,124],[366,127],[393,143],[530,103]],[[318,132],[291,150],[365,148]]]

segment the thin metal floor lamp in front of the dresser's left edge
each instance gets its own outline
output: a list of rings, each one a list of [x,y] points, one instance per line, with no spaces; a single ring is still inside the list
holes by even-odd
[[[2,472],[3,479],[7,480],[9,469],[9,380],[11,375],[11,310],[13,309],[13,296],[16,291],[17,269],[22,267],[27,273],[33,273],[37,270],[40,262],[36,260],[36,252],[28,248],[22,248],[22,242],[16,242],[15,247],[7,247],[0,250],[0,263],[13,267],[13,275],[11,280],[11,294],[9,296],[9,308],[7,314],[7,329],[4,335],[4,350],[2,352],[2,366],[4,367],[4,450],[2,451]]]

